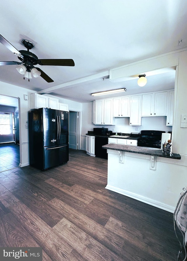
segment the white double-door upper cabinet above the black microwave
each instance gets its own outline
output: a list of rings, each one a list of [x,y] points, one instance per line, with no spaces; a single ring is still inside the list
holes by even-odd
[[[93,123],[112,125],[113,99],[95,100],[93,104]]]

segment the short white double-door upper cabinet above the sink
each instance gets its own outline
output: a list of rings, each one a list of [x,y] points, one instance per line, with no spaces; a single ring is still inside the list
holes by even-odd
[[[113,99],[113,117],[130,117],[130,96]]]

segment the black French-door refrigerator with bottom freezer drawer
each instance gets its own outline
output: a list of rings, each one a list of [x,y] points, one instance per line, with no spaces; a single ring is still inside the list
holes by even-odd
[[[45,170],[69,160],[69,112],[31,110],[28,124],[31,166]]]

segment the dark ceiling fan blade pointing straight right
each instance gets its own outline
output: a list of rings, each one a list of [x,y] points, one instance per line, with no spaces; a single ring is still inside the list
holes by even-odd
[[[39,65],[75,66],[72,59],[39,59]]]

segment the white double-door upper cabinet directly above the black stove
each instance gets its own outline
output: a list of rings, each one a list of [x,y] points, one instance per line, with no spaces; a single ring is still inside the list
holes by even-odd
[[[167,91],[142,94],[141,116],[166,116]]]

